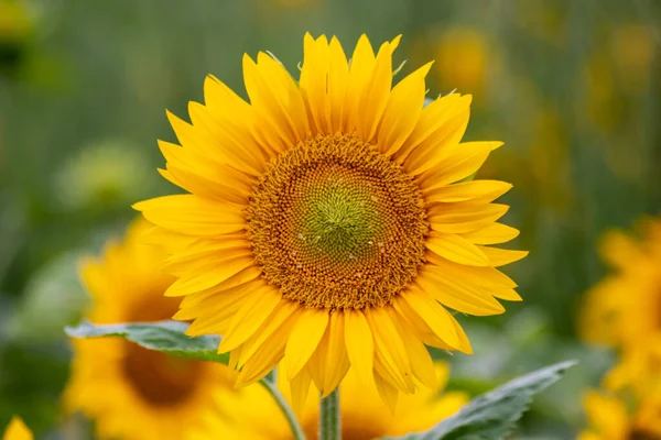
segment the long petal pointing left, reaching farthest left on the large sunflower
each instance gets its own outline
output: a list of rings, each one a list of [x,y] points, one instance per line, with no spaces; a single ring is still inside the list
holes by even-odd
[[[133,205],[133,209],[154,224],[189,235],[220,235],[246,227],[236,208],[193,195],[156,197]]]

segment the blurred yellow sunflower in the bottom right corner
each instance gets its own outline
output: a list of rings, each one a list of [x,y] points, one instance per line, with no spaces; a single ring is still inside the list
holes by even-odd
[[[661,439],[661,395],[650,395],[632,408],[624,396],[592,391],[583,400],[590,428],[578,440]]]

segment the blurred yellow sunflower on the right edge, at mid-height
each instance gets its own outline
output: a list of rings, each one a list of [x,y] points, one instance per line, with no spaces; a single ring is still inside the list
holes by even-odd
[[[661,331],[661,221],[641,223],[642,240],[610,232],[602,248],[615,272],[586,296],[579,331],[589,342],[621,348]]]

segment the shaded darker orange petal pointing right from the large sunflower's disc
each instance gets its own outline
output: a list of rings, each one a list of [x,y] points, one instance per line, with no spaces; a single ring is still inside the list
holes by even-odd
[[[509,206],[500,204],[452,205],[454,206],[436,206],[427,210],[432,230],[453,234],[476,231],[491,224],[509,210]]]

